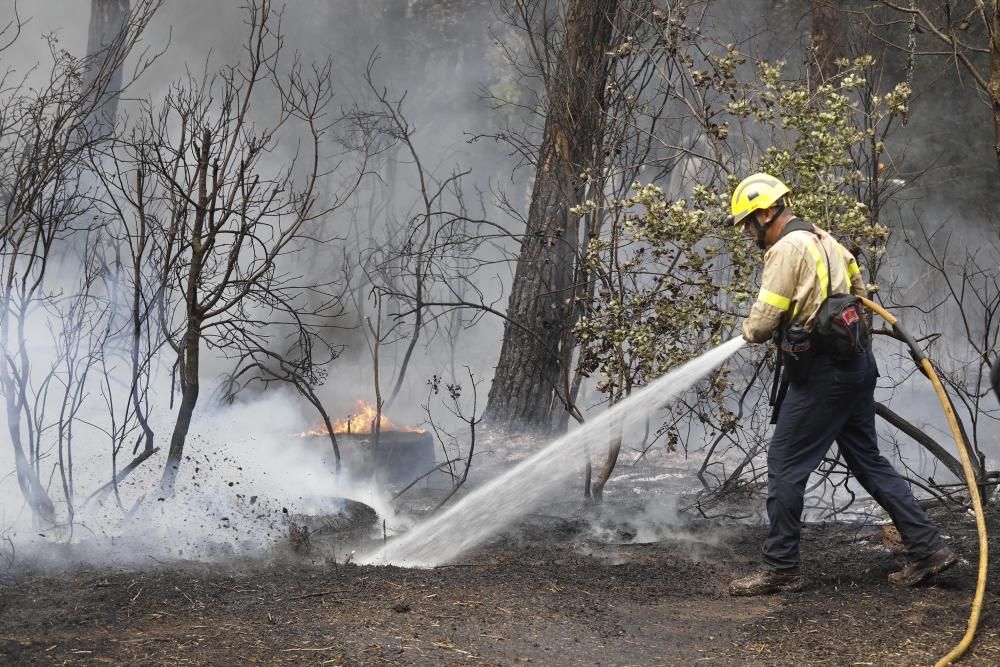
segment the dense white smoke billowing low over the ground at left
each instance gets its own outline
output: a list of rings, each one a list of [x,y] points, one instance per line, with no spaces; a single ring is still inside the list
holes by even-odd
[[[72,528],[33,525],[7,478],[0,483],[6,535],[17,544],[18,558],[36,563],[143,565],[280,557],[298,517],[336,515],[343,498],[371,506],[390,528],[405,528],[384,488],[371,479],[352,479],[350,471],[336,476],[328,441],[297,434],[305,415],[296,403],[274,391],[201,411],[172,497],[158,496],[159,466],[145,466],[116,493],[81,504]],[[94,462],[105,458],[101,454],[77,452]],[[77,482],[96,488],[107,476],[100,466],[84,465]]]

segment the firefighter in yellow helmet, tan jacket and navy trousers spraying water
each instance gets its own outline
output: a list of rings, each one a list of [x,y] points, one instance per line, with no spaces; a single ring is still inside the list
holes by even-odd
[[[903,537],[908,564],[889,581],[913,586],[954,565],[958,558],[913,497],[906,482],[878,451],[871,345],[848,360],[824,352],[813,325],[828,294],[865,295],[851,253],[824,230],[795,217],[789,189],[768,174],[754,174],[733,193],[730,224],[766,250],[761,288],[743,322],[743,338],[764,343],[785,335],[782,353],[789,377],[767,453],[767,515],[763,567],[730,583],[731,595],[796,591],[803,496],[809,475],[836,440],[851,472],[892,518]],[[866,330],[867,331],[867,330]],[[793,340],[794,339],[794,340]],[[776,408],[777,409],[777,408]]]

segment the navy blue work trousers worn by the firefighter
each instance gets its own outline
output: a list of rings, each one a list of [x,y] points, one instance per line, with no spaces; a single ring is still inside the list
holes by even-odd
[[[879,454],[874,398],[877,377],[871,352],[846,365],[834,365],[820,355],[814,359],[806,382],[789,385],[767,453],[771,527],[763,553],[768,568],[799,566],[806,481],[834,440],[854,476],[892,517],[911,560],[944,546],[906,482]]]

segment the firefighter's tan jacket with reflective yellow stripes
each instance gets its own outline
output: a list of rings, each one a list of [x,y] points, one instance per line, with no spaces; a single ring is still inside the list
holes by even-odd
[[[747,341],[763,343],[779,325],[801,324],[811,329],[827,296],[828,271],[835,294],[850,290],[867,295],[854,256],[819,227],[814,230],[814,234],[789,232],[764,254],[760,293],[743,321]]]

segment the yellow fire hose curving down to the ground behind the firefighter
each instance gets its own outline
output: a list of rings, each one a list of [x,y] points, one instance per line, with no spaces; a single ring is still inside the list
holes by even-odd
[[[948,400],[948,395],[945,393],[944,387],[941,385],[941,380],[938,378],[937,373],[934,372],[934,367],[931,365],[930,359],[928,359],[923,350],[917,346],[916,341],[914,341],[908,333],[903,331],[903,329],[899,326],[899,323],[896,321],[896,318],[890,315],[888,311],[868,299],[862,298],[861,301],[864,302],[865,306],[881,315],[886,322],[892,325],[892,330],[910,347],[910,351],[913,354],[913,360],[917,362],[920,368],[924,371],[924,374],[926,374],[927,378],[931,381],[931,384],[934,385],[934,391],[937,393],[938,400],[941,401],[941,407],[944,408],[944,414],[948,418],[948,425],[951,426],[951,435],[955,438],[955,446],[958,448],[958,455],[962,459],[962,470],[965,471],[965,483],[969,487],[969,498],[972,500],[972,508],[976,513],[976,531],[979,533],[979,578],[976,581],[976,595],[972,599],[972,610],[969,613],[969,626],[965,631],[965,636],[962,637],[962,641],[956,644],[955,648],[953,648],[948,655],[938,660],[937,667],[942,667],[943,665],[950,665],[963,653],[965,653],[965,650],[969,648],[969,645],[972,643],[972,638],[976,634],[976,627],[979,625],[979,615],[983,609],[983,596],[986,594],[986,566],[989,562],[988,547],[986,544],[986,519],[983,516],[983,503],[982,499],[979,497],[979,487],[976,483],[976,474],[972,470],[972,462],[969,461],[969,453],[966,451],[964,439],[962,438],[962,432],[958,426],[958,420],[955,418],[955,412],[951,408],[951,402]]]

